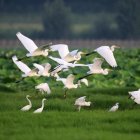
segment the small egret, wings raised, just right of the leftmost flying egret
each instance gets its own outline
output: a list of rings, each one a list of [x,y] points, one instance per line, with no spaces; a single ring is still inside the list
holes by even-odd
[[[45,63],[45,64],[37,64],[37,63],[34,63],[33,64],[34,67],[36,67],[39,71],[38,71],[38,74],[40,76],[47,76],[49,77],[50,76],[50,69],[51,69],[51,65],[49,63]]]

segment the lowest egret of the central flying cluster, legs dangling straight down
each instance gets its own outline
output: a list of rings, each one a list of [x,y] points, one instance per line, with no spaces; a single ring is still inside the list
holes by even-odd
[[[61,81],[63,84],[64,84],[64,88],[66,89],[65,90],[65,93],[64,93],[64,97],[66,98],[66,93],[68,91],[68,89],[72,89],[72,88],[78,88],[79,84],[74,84],[74,79],[75,79],[75,76],[70,74],[67,76],[67,78],[57,78],[56,81]]]

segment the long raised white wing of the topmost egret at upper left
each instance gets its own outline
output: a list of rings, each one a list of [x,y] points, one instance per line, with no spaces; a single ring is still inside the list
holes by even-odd
[[[36,44],[33,42],[33,40],[31,40],[30,38],[24,36],[23,34],[21,34],[20,32],[18,32],[17,34],[18,39],[21,41],[21,43],[23,44],[23,46],[30,52],[33,53],[38,47],[36,46]]]

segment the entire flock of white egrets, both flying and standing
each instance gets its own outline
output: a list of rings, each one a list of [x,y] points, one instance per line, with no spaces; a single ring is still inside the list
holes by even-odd
[[[37,45],[34,43],[33,40],[24,36],[20,32],[18,32],[16,35],[20,40],[20,42],[22,43],[22,45],[28,51],[26,56],[23,58],[17,58],[16,55],[12,57],[13,62],[23,72],[21,76],[22,77],[21,80],[23,80],[26,77],[33,77],[33,76],[55,77],[56,81],[61,81],[64,85],[65,98],[67,96],[67,91],[69,89],[78,88],[81,86],[82,83],[88,86],[88,80],[86,79],[86,77],[89,77],[94,74],[102,74],[102,75],[109,74],[111,69],[102,68],[102,63],[104,62],[104,60],[111,67],[113,68],[117,67],[117,62],[113,54],[115,48],[119,48],[116,45],[112,45],[111,47],[101,46],[90,53],[85,53],[78,50],[69,51],[68,45],[66,44],[52,45],[52,43],[49,43],[47,45],[37,47]],[[53,57],[50,55],[50,52],[58,52],[60,57],[59,58]],[[78,61],[81,60],[82,57],[89,56],[93,53],[98,53],[101,56],[101,58],[94,58],[91,64],[78,63]],[[33,63],[34,68],[31,69],[22,61],[24,58],[35,57],[35,56],[48,57],[52,61],[55,61],[57,65],[54,68],[52,68],[51,64],[48,62],[44,64]],[[80,68],[87,67],[89,71],[87,71],[86,75],[78,79],[76,79],[76,77],[73,74],[68,75],[66,78],[62,78],[59,76],[60,72],[68,71],[69,69],[74,67],[80,67]],[[75,79],[77,80],[76,83],[74,83]],[[51,89],[48,83],[41,83],[35,86],[35,89],[39,90],[42,94],[44,94],[44,92],[46,92],[47,94],[51,93]],[[129,92],[129,94],[131,99],[133,99],[137,104],[140,104],[140,90]],[[24,106],[21,109],[22,111],[28,111],[31,109],[32,103],[29,97],[30,97],[29,95],[26,96],[29,105]],[[42,106],[37,110],[35,110],[34,113],[41,113],[43,111],[45,100],[46,98],[42,99]],[[74,105],[77,106],[78,110],[80,111],[82,106],[90,106],[91,102],[87,102],[86,96],[83,96],[76,99]],[[119,108],[119,103],[116,103],[109,111],[115,112],[118,108]]]

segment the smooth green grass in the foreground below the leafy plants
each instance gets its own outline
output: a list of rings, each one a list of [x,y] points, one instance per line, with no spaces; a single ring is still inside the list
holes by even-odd
[[[64,99],[63,90],[58,87],[45,96],[42,114],[33,114],[41,104],[42,95],[30,90],[0,91],[0,139],[139,139],[140,106],[128,99],[129,90],[132,89],[81,88],[69,91]],[[21,112],[20,108],[27,104],[26,94],[32,96],[33,107],[29,112]],[[84,95],[92,105],[78,112],[74,101]],[[120,103],[119,110],[108,112],[116,102]]]

